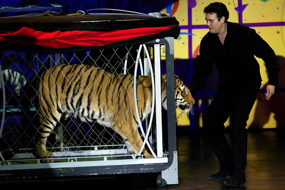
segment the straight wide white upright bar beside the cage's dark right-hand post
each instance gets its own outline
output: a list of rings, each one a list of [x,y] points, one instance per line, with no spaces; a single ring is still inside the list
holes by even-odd
[[[156,100],[156,140],[157,157],[162,157],[162,117],[161,117],[161,74],[160,74],[160,44],[154,44],[154,82]]]

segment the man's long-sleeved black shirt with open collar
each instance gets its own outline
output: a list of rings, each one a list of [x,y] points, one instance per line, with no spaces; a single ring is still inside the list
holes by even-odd
[[[276,86],[280,70],[276,55],[254,29],[227,22],[224,44],[217,34],[208,32],[201,40],[197,70],[188,86],[192,96],[203,88],[214,63],[219,72],[220,84],[260,82],[260,68],[254,56],[265,62],[268,84]]]

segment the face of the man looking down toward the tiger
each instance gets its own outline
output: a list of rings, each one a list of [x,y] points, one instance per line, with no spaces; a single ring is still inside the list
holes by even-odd
[[[224,29],[224,19],[222,18],[220,19],[220,21],[218,21],[217,13],[206,13],[205,19],[207,22],[207,26],[209,27],[210,33],[217,34],[223,32],[222,30]]]

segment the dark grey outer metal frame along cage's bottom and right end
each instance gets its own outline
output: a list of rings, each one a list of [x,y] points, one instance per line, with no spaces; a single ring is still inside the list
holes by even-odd
[[[0,165],[0,178],[2,179],[23,179],[37,177],[71,177],[71,176],[90,176],[121,173],[162,173],[162,179],[167,184],[178,183],[178,164],[176,150],[176,123],[175,123],[175,102],[174,102],[174,38],[166,37],[152,40],[143,44],[165,45],[166,55],[166,75],[167,81],[167,125],[168,125],[168,152],[162,153],[160,158],[134,159],[135,163],[115,163],[117,160],[110,161],[111,164],[92,166],[87,162],[66,162],[66,163],[40,163],[27,164],[32,167],[19,165]],[[160,70],[160,65],[154,64],[154,69]],[[1,73],[2,74],[2,73]],[[3,76],[2,76],[3,80]],[[155,79],[157,80],[157,79]],[[172,87],[172,88],[171,88]],[[156,93],[157,94],[157,93]],[[3,96],[5,97],[5,96]],[[160,107],[161,109],[161,107]],[[2,120],[3,122],[3,120]],[[2,123],[3,125],[3,123]],[[161,145],[162,146],[162,145]],[[158,161],[159,160],[159,161]],[[106,163],[107,160],[102,161]],[[95,161],[99,162],[99,161]],[[100,161],[101,162],[101,161]],[[79,164],[80,163],[80,164]],[[64,165],[64,166],[63,166]],[[18,167],[18,168],[17,168]]]

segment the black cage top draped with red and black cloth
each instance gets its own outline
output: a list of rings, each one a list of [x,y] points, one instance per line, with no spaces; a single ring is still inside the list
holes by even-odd
[[[0,19],[0,48],[70,52],[178,38],[175,17],[133,14],[10,17]]]

